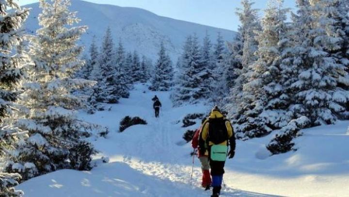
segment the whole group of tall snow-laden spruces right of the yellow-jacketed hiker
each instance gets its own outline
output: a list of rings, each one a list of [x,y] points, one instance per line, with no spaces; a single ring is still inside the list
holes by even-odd
[[[252,0],[241,2],[223,91],[238,138],[280,130],[267,146],[278,154],[302,128],[348,119],[349,1],[297,0],[290,22],[284,0],[270,0],[261,19]]]

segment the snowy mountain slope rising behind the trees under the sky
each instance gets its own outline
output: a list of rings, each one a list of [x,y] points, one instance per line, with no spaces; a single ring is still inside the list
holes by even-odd
[[[34,33],[39,28],[37,21],[37,16],[41,12],[39,4],[23,7],[32,8],[26,28]],[[207,31],[213,41],[218,32],[222,33],[225,40],[232,40],[235,34],[229,30],[157,16],[139,8],[72,0],[71,10],[78,12],[81,19],[79,25],[89,26],[87,33],[82,36],[81,42],[84,45],[90,45],[93,35],[97,36],[97,43],[101,41],[106,28],[110,26],[115,42],[121,38],[127,50],[136,49],[152,59],[157,57],[160,41],[164,41],[170,56],[176,61],[185,37],[191,33],[197,33],[202,40]]]

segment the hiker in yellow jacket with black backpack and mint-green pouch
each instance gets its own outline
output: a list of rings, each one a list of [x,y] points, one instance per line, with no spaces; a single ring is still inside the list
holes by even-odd
[[[229,145],[230,150],[228,152]],[[231,159],[235,155],[235,136],[232,125],[222,115],[217,106],[212,109],[211,114],[202,126],[199,146],[201,147],[200,154],[205,154],[206,149],[203,147],[207,147],[213,187],[211,197],[218,197],[222,189],[226,157],[228,156]]]

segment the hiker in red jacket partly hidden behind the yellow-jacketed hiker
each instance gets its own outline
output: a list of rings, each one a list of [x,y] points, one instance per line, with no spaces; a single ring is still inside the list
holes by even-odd
[[[202,124],[204,124],[206,118],[202,120]],[[205,190],[209,190],[211,187],[211,176],[209,173],[209,163],[208,163],[208,151],[206,150],[204,154],[200,154],[200,147],[199,145],[199,135],[200,135],[201,127],[195,131],[194,137],[191,141],[191,147],[192,148],[198,148],[198,157],[201,163],[201,169],[202,169],[202,182],[201,186],[205,188]]]

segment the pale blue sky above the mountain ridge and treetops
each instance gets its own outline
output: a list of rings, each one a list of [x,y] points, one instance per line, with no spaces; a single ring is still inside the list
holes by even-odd
[[[38,0],[19,0],[21,5]],[[237,30],[239,21],[235,15],[240,0],[87,0],[95,3],[123,7],[138,7],[160,16],[195,22],[199,24]],[[268,0],[255,0],[255,8],[265,9]],[[285,6],[294,8],[295,0],[285,0]]]

